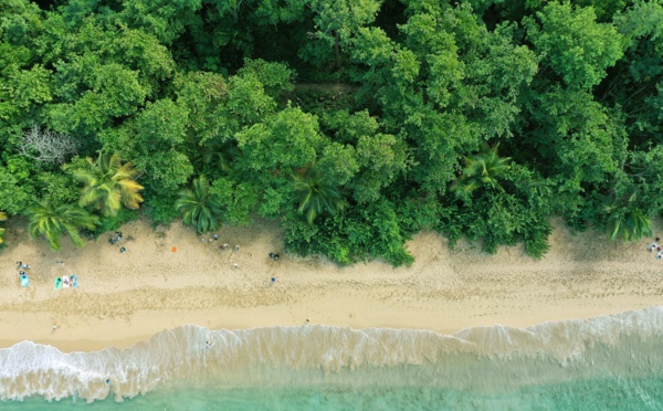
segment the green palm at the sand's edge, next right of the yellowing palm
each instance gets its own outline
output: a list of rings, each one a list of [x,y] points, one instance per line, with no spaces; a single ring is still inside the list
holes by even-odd
[[[175,208],[182,214],[185,224],[196,226],[198,233],[217,230],[221,204],[217,196],[210,192],[210,183],[204,176],[193,180],[192,189],[179,192]]]

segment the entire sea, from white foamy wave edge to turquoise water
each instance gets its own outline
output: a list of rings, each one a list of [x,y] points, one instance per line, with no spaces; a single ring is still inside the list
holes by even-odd
[[[663,307],[453,335],[185,326],[95,352],[24,341],[0,349],[0,399],[2,410],[663,410]]]

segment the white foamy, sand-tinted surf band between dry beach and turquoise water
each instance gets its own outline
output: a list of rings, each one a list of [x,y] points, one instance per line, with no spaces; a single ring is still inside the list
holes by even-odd
[[[529,328],[501,325],[453,335],[306,325],[161,331],[126,349],[63,354],[19,342],[0,349],[0,399],[117,401],[182,380],[224,388],[315,384],[491,391],[601,376],[650,376],[663,307]],[[209,344],[208,344],[209,341]]]

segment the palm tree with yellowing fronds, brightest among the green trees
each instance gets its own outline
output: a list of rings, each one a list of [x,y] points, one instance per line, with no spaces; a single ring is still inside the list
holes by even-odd
[[[134,181],[138,175],[130,161],[120,162],[117,152],[110,157],[99,154],[96,161],[88,157],[86,167],[74,172],[74,177],[85,185],[78,204],[92,204],[104,215],[117,214],[123,204],[137,209],[143,202],[143,196],[138,193],[143,186]]]

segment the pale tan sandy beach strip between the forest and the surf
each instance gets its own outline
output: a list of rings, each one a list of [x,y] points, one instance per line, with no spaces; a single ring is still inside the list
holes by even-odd
[[[180,223],[155,231],[139,221],[123,228],[116,245],[103,235],[77,249],[63,238],[61,252],[11,228],[9,247],[0,251],[0,347],[22,340],[64,351],[128,347],[185,324],[213,329],[325,324],[446,334],[662,304],[663,261],[646,251],[651,240],[611,243],[596,232],[571,235],[561,223],[555,225],[551,250],[540,261],[526,256],[522,246],[501,247],[496,255],[467,243],[451,250],[444,238],[422,232],[407,244],[414,264],[400,268],[382,262],[338,267],[323,257],[284,253],[272,261],[269,253],[280,251],[283,239],[273,222],[225,226],[219,241],[201,243]],[[220,250],[223,243],[230,247]],[[122,254],[120,246],[127,252]],[[17,261],[32,266],[28,288],[20,286]],[[77,274],[78,287],[54,289],[54,278],[69,274]]]

